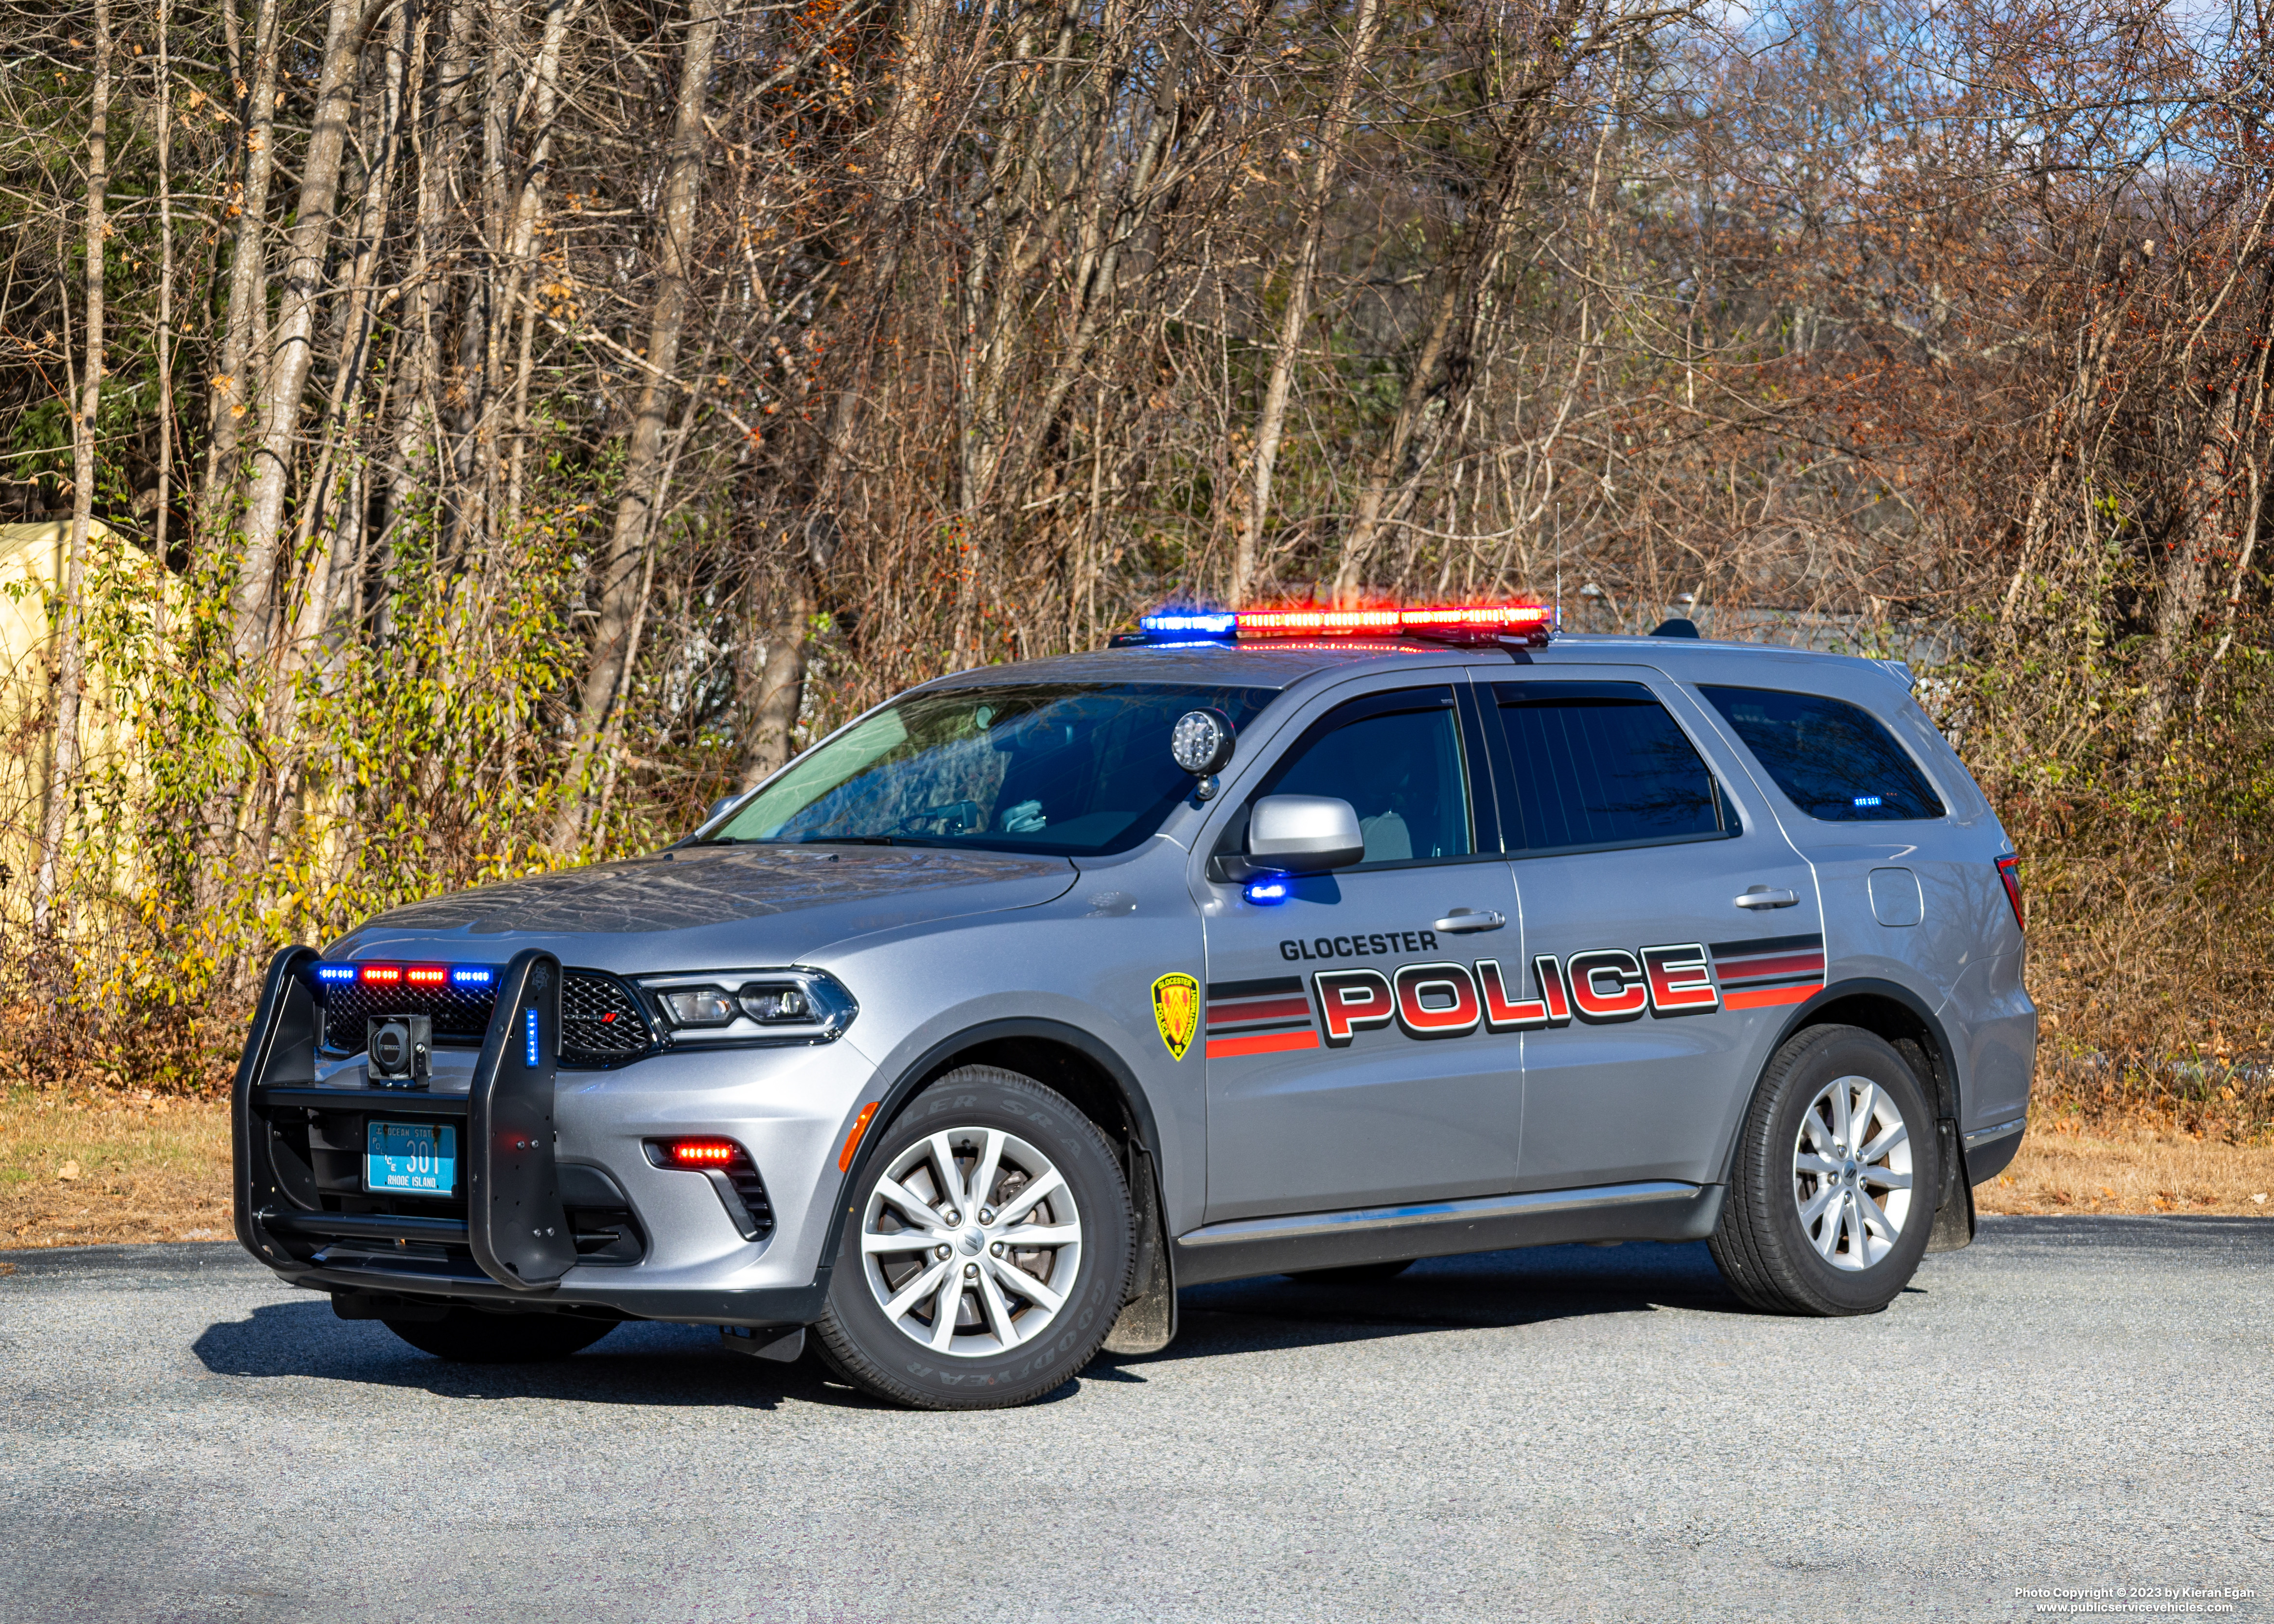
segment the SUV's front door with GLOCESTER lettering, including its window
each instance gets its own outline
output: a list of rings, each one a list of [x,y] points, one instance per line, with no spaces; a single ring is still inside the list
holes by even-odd
[[[1469,682],[1335,703],[1246,805],[1264,794],[1348,801],[1367,860],[1271,905],[1210,885],[1207,1219],[1510,1190],[1521,1046],[1467,960],[1514,944],[1514,896]],[[1244,851],[1246,805],[1219,851]]]

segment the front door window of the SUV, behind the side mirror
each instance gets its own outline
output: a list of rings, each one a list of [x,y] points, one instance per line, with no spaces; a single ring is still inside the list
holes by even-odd
[[[1351,710],[1362,714],[1328,719],[1328,730],[1298,744],[1264,794],[1348,801],[1367,832],[1367,862],[1467,857],[1476,839],[1453,696],[1428,689],[1412,698],[1430,707],[1383,714],[1380,698],[1355,701]]]

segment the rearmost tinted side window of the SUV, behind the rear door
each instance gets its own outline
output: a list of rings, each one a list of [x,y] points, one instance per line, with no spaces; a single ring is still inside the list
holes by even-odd
[[[1862,705],[1767,687],[1699,687],[1801,812],[1826,823],[1942,817],[1942,796]]]

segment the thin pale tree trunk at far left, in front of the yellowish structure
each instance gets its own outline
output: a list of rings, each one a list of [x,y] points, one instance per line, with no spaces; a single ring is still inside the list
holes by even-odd
[[[86,689],[86,530],[96,516],[96,409],[102,405],[102,237],[109,189],[111,7],[96,0],[96,100],[86,121],[86,373],[70,419],[70,550],[64,555],[55,671],[55,762],[32,889],[32,930],[55,930],[55,901],[80,787],[80,696]]]

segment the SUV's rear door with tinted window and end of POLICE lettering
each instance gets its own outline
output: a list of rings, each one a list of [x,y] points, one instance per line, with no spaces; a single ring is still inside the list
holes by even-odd
[[[1519,1190],[1708,1183],[1824,985],[1808,862],[1658,671],[1478,685],[1524,914]]]

